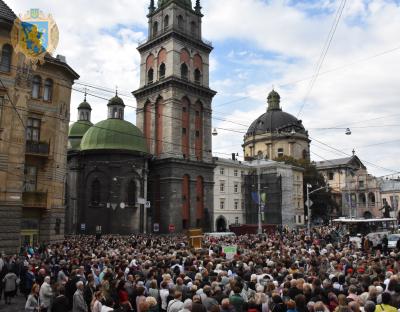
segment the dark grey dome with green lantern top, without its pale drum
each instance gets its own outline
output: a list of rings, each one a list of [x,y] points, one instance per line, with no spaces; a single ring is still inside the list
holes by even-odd
[[[306,134],[301,122],[291,114],[285,113],[280,107],[280,95],[272,90],[268,95],[268,110],[250,125],[247,136],[266,132],[291,132]]]

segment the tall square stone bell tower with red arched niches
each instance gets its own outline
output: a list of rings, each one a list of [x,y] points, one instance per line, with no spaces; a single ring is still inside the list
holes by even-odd
[[[213,169],[210,42],[202,39],[200,0],[150,1],[148,38],[140,44],[136,124],[154,158],[148,230],[161,233],[211,223]]]

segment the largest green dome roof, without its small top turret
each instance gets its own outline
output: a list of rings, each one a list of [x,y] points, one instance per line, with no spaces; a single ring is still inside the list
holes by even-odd
[[[143,133],[128,121],[107,119],[91,127],[83,136],[81,150],[127,150],[147,153]]]

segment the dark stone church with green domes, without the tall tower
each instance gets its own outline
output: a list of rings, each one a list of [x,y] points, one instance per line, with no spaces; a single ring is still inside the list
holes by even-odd
[[[143,133],[124,120],[115,96],[108,118],[93,125],[91,107],[78,107],[69,130],[66,229],[68,234],[146,232],[148,159]]]

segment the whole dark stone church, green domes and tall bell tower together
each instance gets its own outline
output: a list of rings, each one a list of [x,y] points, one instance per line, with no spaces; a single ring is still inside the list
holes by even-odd
[[[118,96],[108,119],[90,122],[86,100],[69,132],[70,233],[205,231],[213,170],[209,87],[211,43],[202,39],[200,1],[154,0],[141,55],[136,126]]]

